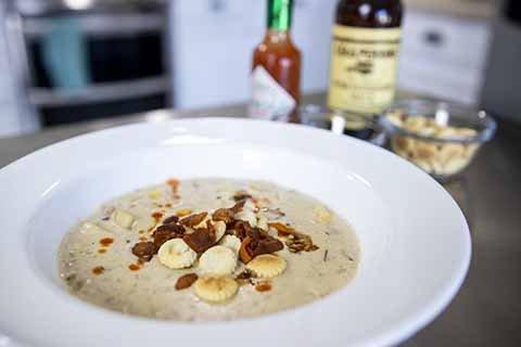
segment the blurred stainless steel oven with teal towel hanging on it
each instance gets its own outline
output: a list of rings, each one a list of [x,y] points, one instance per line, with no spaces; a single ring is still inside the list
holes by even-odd
[[[10,52],[41,125],[168,106],[166,8],[161,0],[12,0]]]

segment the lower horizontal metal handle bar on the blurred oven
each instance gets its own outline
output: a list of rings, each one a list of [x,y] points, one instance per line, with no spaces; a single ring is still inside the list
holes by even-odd
[[[79,90],[30,88],[29,101],[39,107],[73,106],[149,97],[169,91],[168,77],[152,77],[122,82],[96,83]]]

